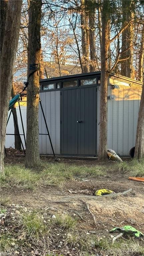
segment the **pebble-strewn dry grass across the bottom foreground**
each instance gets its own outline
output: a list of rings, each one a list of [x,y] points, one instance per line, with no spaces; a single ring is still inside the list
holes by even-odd
[[[7,209],[9,215],[5,219],[5,230],[1,232],[0,250],[3,254],[15,255],[15,251],[18,251],[21,256],[30,256],[31,251],[37,250],[39,255],[66,256],[74,248],[76,256],[92,256],[97,253],[101,256],[144,255],[141,241],[119,239],[112,243],[109,234],[106,237],[86,234],[85,230],[79,228],[78,221],[68,214],[59,213],[56,218],[52,218],[47,213],[42,218],[42,211],[21,212],[13,220],[11,209]],[[52,253],[53,250],[57,254]]]

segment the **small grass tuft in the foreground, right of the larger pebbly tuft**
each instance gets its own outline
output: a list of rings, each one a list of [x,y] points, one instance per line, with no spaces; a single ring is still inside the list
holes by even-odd
[[[56,218],[52,219],[51,223],[65,230],[73,230],[77,221],[68,214],[56,214]]]

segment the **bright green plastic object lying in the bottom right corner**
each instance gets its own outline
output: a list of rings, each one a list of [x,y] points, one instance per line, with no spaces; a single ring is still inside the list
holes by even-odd
[[[115,227],[110,230],[110,233],[114,233],[114,232],[122,232],[123,234],[128,234],[130,236],[134,235],[136,238],[144,237],[144,234],[142,232],[128,225],[123,226],[122,228]]]

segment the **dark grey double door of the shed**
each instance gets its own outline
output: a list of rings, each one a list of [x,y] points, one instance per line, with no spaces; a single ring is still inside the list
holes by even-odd
[[[61,154],[96,155],[96,87],[61,91]]]

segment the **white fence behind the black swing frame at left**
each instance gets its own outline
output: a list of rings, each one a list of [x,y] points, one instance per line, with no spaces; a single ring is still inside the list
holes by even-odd
[[[26,106],[20,106],[20,108],[21,108],[22,120],[23,120],[23,125],[24,125],[25,136],[26,136]],[[19,107],[16,107],[16,111],[17,111],[19,132],[20,132],[20,134],[23,134]],[[9,116],[9,113],[10,113],[10,111],[8,112],[8,116]],[[10,119],[8,121],[8,124],[7,124],[6,134],[14,134],[14,120],[13,120],[13,114],[12,113],[11,113]],[[21,135],[21,140],[22,140],[24,148],[25,148],[25,142],[24,142],[24,136],[23,135]],[[6,135],[5,147],[6,148],[12,147],[14,149],[15,148],[14,141],[15,141],[14,140],[14,135]]]

